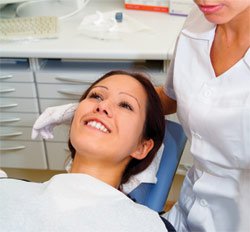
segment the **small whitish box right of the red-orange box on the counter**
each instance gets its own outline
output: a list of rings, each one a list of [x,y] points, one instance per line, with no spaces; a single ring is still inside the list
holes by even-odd
[[[169,14],[187,16],[194,5],[193,0],[169,0]]]

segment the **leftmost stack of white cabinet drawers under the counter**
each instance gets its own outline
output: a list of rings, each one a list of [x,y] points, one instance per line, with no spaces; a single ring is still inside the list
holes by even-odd
[[[1,59],[0,83],[0,166],[47,169],[43,141],[31,140],[39,107],[28,59]]]

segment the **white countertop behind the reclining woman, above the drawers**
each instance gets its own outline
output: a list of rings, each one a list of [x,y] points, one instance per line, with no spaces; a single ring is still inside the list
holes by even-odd
[[[127,34],[118,40],[100,40],[79,33],[84,16],[97,10],[122,11],[149,30]],[[185,17],[167,13],[125,10],[120,0],[90,0],[76,15],[60,21],[59,37],[37,41],[0,42],[1,57],[169,60]]]

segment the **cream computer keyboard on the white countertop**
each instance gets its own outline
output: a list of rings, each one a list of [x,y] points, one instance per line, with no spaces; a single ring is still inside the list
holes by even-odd
[[[0,40],[45,39],[58,36],[58,18],[35,16],[0,19]]]

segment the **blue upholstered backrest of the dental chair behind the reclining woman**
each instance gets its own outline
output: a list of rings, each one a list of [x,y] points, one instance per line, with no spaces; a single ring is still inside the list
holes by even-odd
[[[186,136],[180,124],[166,120],[163,143],[164,151],[157,172],[157,183],[142,183],[129,194],[136,202],[146,205],[157,212],[162,212],[164,209],[186,144]]]

